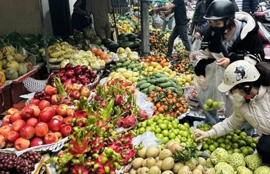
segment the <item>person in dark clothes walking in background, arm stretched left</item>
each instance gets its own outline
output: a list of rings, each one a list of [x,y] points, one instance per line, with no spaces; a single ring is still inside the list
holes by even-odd
[[[171,58],[173,44],[176,37],[179,35],[187,51],[190,51],[189,36],[188,36],[188,19],[187,9],[184,0],[174,0],[168,6],[153,9],[154,12],[165,14],[174,13],[175,27],[169,36],[167,57]],[[171,60],[173,61],[173,60]]]

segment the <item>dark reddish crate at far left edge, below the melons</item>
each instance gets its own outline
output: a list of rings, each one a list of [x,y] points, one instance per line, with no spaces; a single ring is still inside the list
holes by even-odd
[[[0,114],[11,108],[10,86],[3,87],[0,91]]]

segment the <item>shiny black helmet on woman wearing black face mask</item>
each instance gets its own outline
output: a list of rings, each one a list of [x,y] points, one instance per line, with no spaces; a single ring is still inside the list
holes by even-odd
[[[207,8],[204,18],[207,20],[235,18],[235,6],[230,0],[214,0]]]

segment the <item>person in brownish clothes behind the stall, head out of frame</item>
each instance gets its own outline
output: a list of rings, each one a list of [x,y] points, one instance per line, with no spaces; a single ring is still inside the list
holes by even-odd
[[[110,0],[88,0],[86,2],[86,11],[93,14],[94,28],[100,39],[110,39],[108,18],[108,14],[112,12]]]

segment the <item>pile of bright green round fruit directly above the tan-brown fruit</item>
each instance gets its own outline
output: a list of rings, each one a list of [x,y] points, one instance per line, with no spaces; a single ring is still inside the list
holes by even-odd
[[[169,141],[177,142],[183,146],[197,146],[192,137],[193,130],[189,129],[189,124],[179,124],[179,120],[172,116],[153,116],[152,118],[139,122],[137,130],[134,132],[138,135],[145,131],[151,131],[158,139],[162,140],[161,146],[164,147]]]

